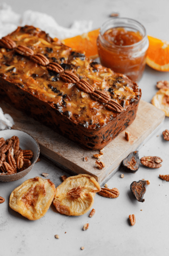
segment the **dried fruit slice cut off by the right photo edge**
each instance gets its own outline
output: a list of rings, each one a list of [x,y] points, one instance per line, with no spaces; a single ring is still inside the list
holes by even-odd
[[[151,103],[157,108],[163,110],[165,115],[169,117],[169,89],[163,88],[158,90]]]

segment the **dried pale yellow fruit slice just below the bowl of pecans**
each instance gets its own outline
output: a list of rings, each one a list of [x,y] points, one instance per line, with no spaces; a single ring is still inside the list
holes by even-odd
[[[29,220],[37,220],[49,209],[55,192],[55,185],[49,179],[28,179],[12,191],[9,206]]]

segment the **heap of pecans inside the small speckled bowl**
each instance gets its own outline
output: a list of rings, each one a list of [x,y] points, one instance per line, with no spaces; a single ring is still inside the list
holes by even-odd
[[[5,140],[0,138],[0,175],[14,174],[31,165],[32,150],[22,150],[19,138],[12,136]]]

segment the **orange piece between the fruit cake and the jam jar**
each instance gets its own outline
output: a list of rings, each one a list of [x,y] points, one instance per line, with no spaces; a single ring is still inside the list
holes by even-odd
[[[71,47],[72,49],[85,53],[87,57],[97,58],[98,50],[96,41],[99,30],[100,29],[96,29],[82,35],[66,38],[62,40],[62,43]]]

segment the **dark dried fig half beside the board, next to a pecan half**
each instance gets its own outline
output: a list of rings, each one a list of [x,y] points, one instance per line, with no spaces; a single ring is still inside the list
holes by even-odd
[[[126,171],[135,173],[140,166],[138,151],[131,152],[128,157],[123,160],[122,165],[125,167]]]

